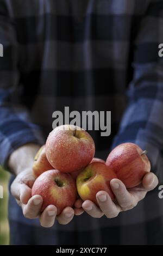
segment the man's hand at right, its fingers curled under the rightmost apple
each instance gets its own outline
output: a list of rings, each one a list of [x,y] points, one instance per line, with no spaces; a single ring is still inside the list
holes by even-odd
[[[99,208],[90,200],[86,200],[83,203],[83,209],[87,214],[94,218],[101,218],[103,215],[108,218],[114,218],[121,211],[134,208],[140,200],[145,198],[148,191],[153,190],[158,185],[158,178],[154,173],[147,173],[142,180],[142,185],[128,190],[123,182],[118,179],[112,179],[110,185],[116,196],[115,202],[112,202],[108,193],[99,191],[96,194]]]

